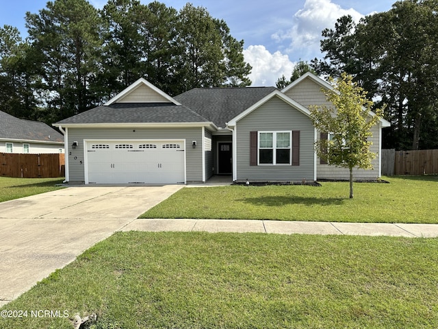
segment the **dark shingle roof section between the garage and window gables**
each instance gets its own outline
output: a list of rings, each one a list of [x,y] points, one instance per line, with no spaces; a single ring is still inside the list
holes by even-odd
[[[225,123],[274,90],[277,89],[275,87],[194,88],[173,98],[218,127],[225,127]]]

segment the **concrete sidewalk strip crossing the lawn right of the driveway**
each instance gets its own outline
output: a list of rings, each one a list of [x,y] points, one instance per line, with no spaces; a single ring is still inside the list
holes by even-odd
[[[243,219],[136,219],[122,231],[257,232],[276,234],[335,234],[365,236],[438,236],[436,224],[334,223],[318,221],[257,221]]]

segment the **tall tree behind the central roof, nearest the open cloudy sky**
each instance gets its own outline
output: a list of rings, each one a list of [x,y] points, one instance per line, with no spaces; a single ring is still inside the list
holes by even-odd
[[[243,42],[231,37],[224,21],[188,3],[179,12],[178,31],[180,93],[196,87],[250,84],[251,67],[242,56]]]

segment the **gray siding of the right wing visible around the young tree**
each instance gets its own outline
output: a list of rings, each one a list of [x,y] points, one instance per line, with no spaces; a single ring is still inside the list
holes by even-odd
[[[376,154],[376,158],[372,160],[372,165],[374,169],[353,169],[353,177],[355,178],[355,180],[376,180],[379,177],[379,133],[380,127],[378,125],[375,125],[372,128],[372,136],[368,138],[368,141],[372,142],[371,151]],[[320,138],[319,134],[318,138]],[[320,159],[318,158],[317,178],[318,180],[349,180],[350,171],[342,167],[335,167],[329,164],[320,164]]]

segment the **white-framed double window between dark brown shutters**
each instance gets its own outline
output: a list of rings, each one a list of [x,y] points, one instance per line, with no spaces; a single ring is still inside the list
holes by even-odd
[[[259,132],[259,164],[291,164],[292,132]]]

